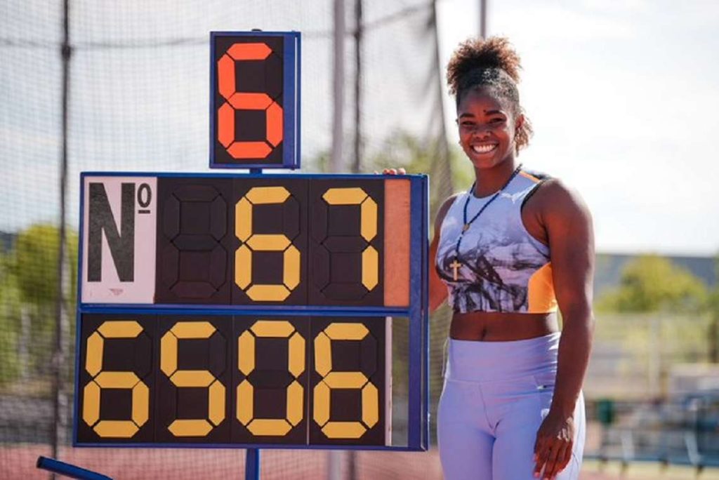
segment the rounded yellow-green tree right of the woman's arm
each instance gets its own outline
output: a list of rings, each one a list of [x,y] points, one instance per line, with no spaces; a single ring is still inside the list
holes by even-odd
[[[708,300],[706,285],[689,270],[658,255],[641,255],[626,264],[619,286],[597,301],[597,310],[699,313]]]

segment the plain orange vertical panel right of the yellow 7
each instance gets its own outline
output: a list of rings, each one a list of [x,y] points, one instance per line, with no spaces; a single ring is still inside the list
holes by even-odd
[[[410,182],[385,180],[385,306],[409,305]]]

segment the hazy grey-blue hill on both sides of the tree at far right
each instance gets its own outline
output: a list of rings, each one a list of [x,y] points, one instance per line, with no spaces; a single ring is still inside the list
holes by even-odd
[[[637,254],[597,254],[594,277],[595,297],[619,283],[622,269],[627,262],[638,257]],[[715,257],[679,257],[662,255],[674,264],[680,265],[699,277],[706,285],[717,285]]]

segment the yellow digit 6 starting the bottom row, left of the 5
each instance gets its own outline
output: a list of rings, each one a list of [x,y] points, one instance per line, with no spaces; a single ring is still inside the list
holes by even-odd
[[[85,370],[93,379],[83,389],[83,420],[103,438],[131,438],[150,415],[150,390],[132,371],[102,371],[102,354],[106,338],[137,338],[142,326],[133,320],[102,323],[88,337]],[[102,389],[132,390],[132,420],[100,420]],[[98,421],[99,420],[99,421]]]

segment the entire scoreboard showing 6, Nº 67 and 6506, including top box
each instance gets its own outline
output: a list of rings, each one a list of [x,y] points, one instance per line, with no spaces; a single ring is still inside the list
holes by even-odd
[[[426,450],[427,178],[299,166],[299,34],[211,35],[211,167],[83,172],[75,446]]]

